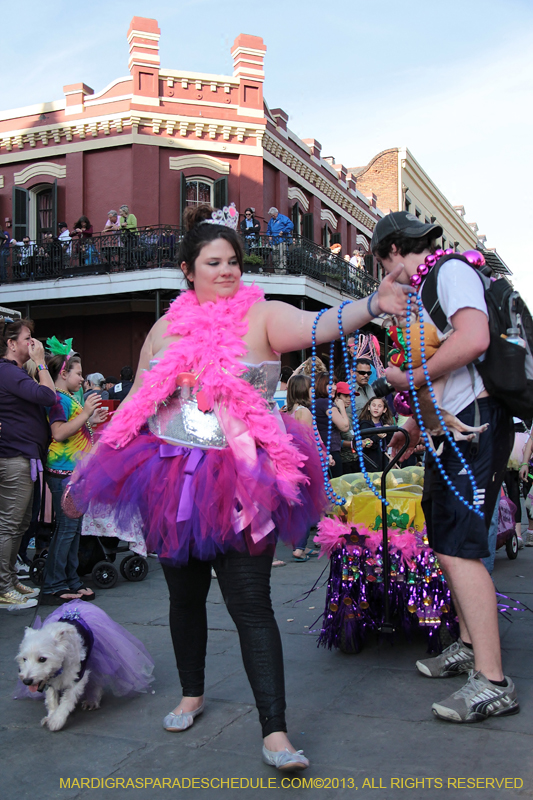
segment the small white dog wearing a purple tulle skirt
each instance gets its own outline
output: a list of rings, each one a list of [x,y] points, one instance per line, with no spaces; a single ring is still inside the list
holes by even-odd
[[[116,695],[145,692],[153,661],[142,643],[93,604],[74,600],[54,611],[37,630],[26,628],[16,661],[27,691],[44,692],[41,725],[59,731],[81,700],[100,707],[104,686]]]

